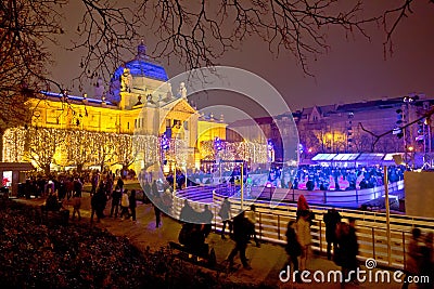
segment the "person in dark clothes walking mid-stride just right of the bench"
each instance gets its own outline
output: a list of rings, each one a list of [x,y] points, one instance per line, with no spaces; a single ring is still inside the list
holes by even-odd
[[[244,211],[239,215],[233,218],[233,239],[235,241],[235,247],[232,249],[228,257],[229,266],[233,266],[233,258],[240,252],[240,259],[243,263],[243,267],[251,270],[252,267],[247,263],[247,258],[245,257],[245,250],[247,249],[247,244],[251,238],[253,224],[244,216]]]

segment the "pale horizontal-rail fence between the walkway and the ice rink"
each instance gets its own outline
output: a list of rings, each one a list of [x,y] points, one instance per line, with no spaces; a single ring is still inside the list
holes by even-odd
[[[209,189],[209,188],[208,188]],[[204,187],[197,188],[197,194],[209,194],[204,192]],[[220,232],[222,222],[218,216],[221,202],[225,196],[214,193],[213,201],[191,201],[191,206],[196,211],[202,211],[205,205],[208,205],[214,213],[213,227]],[[183,197],[174,196],[173,215],[179,216],[180,210],[184,203]],[[241,209],[241,200],[230,198],[231,212],[234,216]],[[251,200],[243,201],[244,209],[248,209]],[[264,241],[284,245],[286,242],[286,225],[289,221],[295,220],[296,205],[278,203],[270,201],[254,201],[256,206],[257,223],[256,232],[258,237]],[[322,221],[327,207],[310,206],[315,213],[312,220],[311,236],[312,249],[320,252],[327,252],[326,241],[326,224]],[[373,258],[383,265],[388,265],[387,234],[386,234],[386,215],[382,212],[359,211],[335,208],[346,222],[348,218],[356,220],[357,237],[359,244],[359,259]],[[434,232],[434,220],[425,218],[417,218],[409,215],[391,214],[391,266],[403,268],[406,262],[406,250],[411,239],[411,229],[419,227],[423,233]]]

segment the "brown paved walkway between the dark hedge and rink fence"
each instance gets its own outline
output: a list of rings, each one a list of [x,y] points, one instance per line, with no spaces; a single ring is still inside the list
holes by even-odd
[[[18,199],[20,202],[40,205],[43,202],[42,199]],[[82,197],[81,208],[81,223],[90,222],[90,197],[89,194],[85,193]],[[67,205],[67,209],[72,210],[72,207]],[[108,214],[110,202],[106,206],[105,214]],[[78,222],[78,221],[75,221]],[[137,221],[120,220],[113,218],[104,218],[101,223],[95,223],[97,226],[106,228],[114,235],[127,236],[130,241],[144,250],[150,247],[151,250],[158,250],[161,247],[166,247],[168,241],[178,241],[178,234],[181,229],[181,224],[176,220],[168,216],[162,218],[162,226],[155,227],[155,216],[152,205],[145,205],[138,201],[137,208]],[[207,238],[207,242],[212,248],[215,249],[217,255],[217,262],[222,262],[231,251],[234,242],[227,238],[221,239],[218,234],[212,233]],[[254,284],[266,284],[273,288],[342,288],[341,285],[335,283],[318,284],[312,280],[311,284],[293,284],[291,281],[282,283],[279,279],[279,273],[286,261],[286,253],[282,246],[273,244],[263,244],[260,248],[256,248],[253,245],[247,247],[246,255],[250,259],[250,264],[253,267],[251,271],[240,268],[234,273],[231,273],[228,278],[233,281],[241,283],[254,283]],[[235,263],[240,263],[239,259],[235,259]],[[323,257],[312,255],[307,264],[307,267],[312,272],[320,270],[326,273],[331,270],[339,270],[339,267],[332,262],[328,261]],[[362,267],[365,270],[365,266]],[[391,274],[392,277],[392,274]],[[310,278],[312,276],[310,275]],[[359,284],[359,285],[346,285],[345,288],[400,288],[401,286],[396,283],[392,284]]]

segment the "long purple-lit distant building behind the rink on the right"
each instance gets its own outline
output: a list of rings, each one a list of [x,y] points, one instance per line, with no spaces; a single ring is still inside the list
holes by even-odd
[[[432,123],[421,119],[434,104],[423,95],[367,101],[352,104],[314,106],[292,113],[299,136],[301,158],[311,158],[318,153],[411,153],[432,150]],[[255,119],[261,129],[254,129],[253,120],[239,120],[228,126],[228,140],[237,139],[231,131],[256,133],[252,139],[272,140],[279,144],[280,132],[271,117]],[[413,122],[403,130],[400,127]],[[388,132],[388,133],[386,133]],[[286,132],[288,133],[288,132]],[[293,133],[293,132],[290,132]],[[384,134],[385,133],[385,134]],[[384,134],[381,137],[375,137]],[[375,142],[376,141],[376,142]],[[277,148],[277,158],[281,155]]]

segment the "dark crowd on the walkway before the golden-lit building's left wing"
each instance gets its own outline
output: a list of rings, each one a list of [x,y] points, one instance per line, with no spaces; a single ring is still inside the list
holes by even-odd
[[[99,172],[98,170],[86,172],[82,174],[51,174],[43,176],[42,174],[30,175],[23,187],[18,197],[46,198],[41,209],[44,211],[59,211],[66,203],[72,205],[72,220],[76,215],[78,221],[81,220],[80,208],[84,183],[91,184],[91,219],[94,216],[99,223],[105,218],[105,209],[110,211],[111,218],[132,219],[136,221],[137,192],[136,189],[127,189],[124,187],[123,178],[116,176],[116,173]],[[155,182],[154,182],[155,185]],[[157,192],[157,189],[154,189]],[[142,200],[144,200],[143,195]],[[108,205],[108,206],[107,206]],[[158,221],[159,222],[159,221]]]

